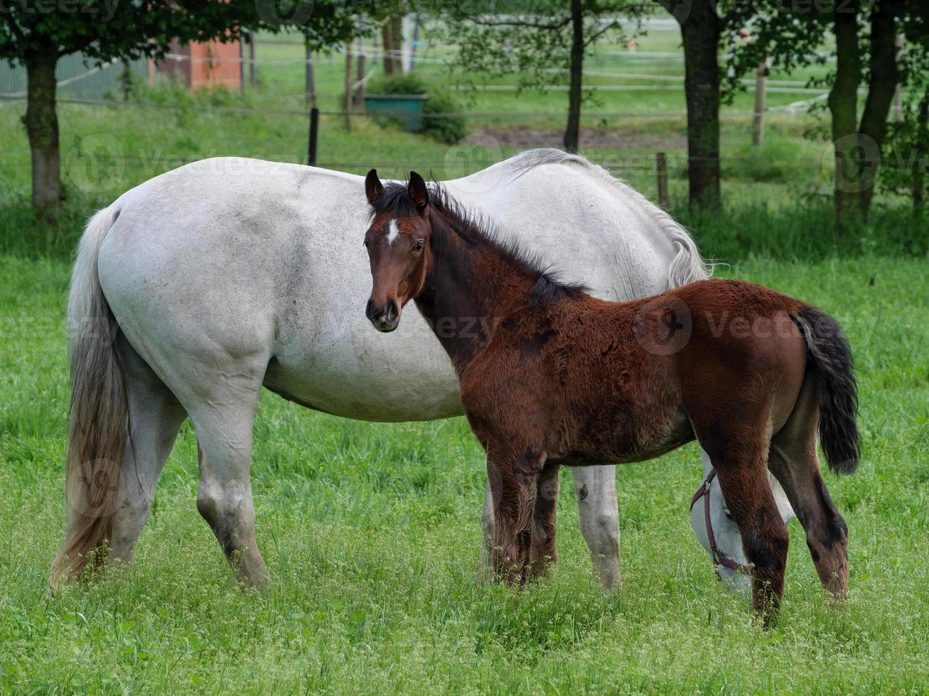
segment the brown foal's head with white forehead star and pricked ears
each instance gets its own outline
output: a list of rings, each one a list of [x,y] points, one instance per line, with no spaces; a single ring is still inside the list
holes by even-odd
[[[364,246],[371,261],[373,288],[366,314],[379,331],[397,329],[403,305],[423,289],[429,248],[429,190],[423,177],[410,173],[405,189],[385,192],[376,170],[364,180],[373,208]]]

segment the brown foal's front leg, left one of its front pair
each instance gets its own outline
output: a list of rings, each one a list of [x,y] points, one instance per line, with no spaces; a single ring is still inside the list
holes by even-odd
[[[513,445],[488,444],[487,477],[493,496],[491,566],[509,584],[526,581],[530,561],[532,517],[543,457],[517,453]]]

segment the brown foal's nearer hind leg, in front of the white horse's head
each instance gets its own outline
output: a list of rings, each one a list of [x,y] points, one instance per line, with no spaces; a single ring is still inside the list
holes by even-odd
[[[760,433],[741,430],[745,437],[738,445],[713,446],[703,440],[700,445],[713,459],[726,507],[739,526],[752,568],[752,606],[767,625],[769,613],[778,609],[784,594],[789,535],[767,479],[768,444],[758,442],[763,439]]]

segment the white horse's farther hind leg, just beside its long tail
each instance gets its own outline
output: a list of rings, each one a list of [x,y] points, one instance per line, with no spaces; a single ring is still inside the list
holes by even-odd
[[[187,413],[162,380],[125,342],[132,445],[126,444],[120,475],[120,494],[113,511],[111,558],[129,562],[142,526],[149,519],[155,483],[171,453]]]

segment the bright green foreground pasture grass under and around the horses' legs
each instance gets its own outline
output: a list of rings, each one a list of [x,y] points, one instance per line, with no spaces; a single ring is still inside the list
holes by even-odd
[[[826,476],[850,528],[851,597],[828,606],[793,522],[767,631],[690,532],[694,445],[617,470],[623,582],[611,594],[563,471],[556,572],[519,592],[473,581],[484,465],[464,419],[369,424],[268,393],[253,466],[267,593],[239,589],[197,514],[185,425],[132,565],[52,594],[69,267],[0,256],[0,691],[925,693],[925,262],[759,258],[720,272],[837,316],[861,386],[861,467]]]

